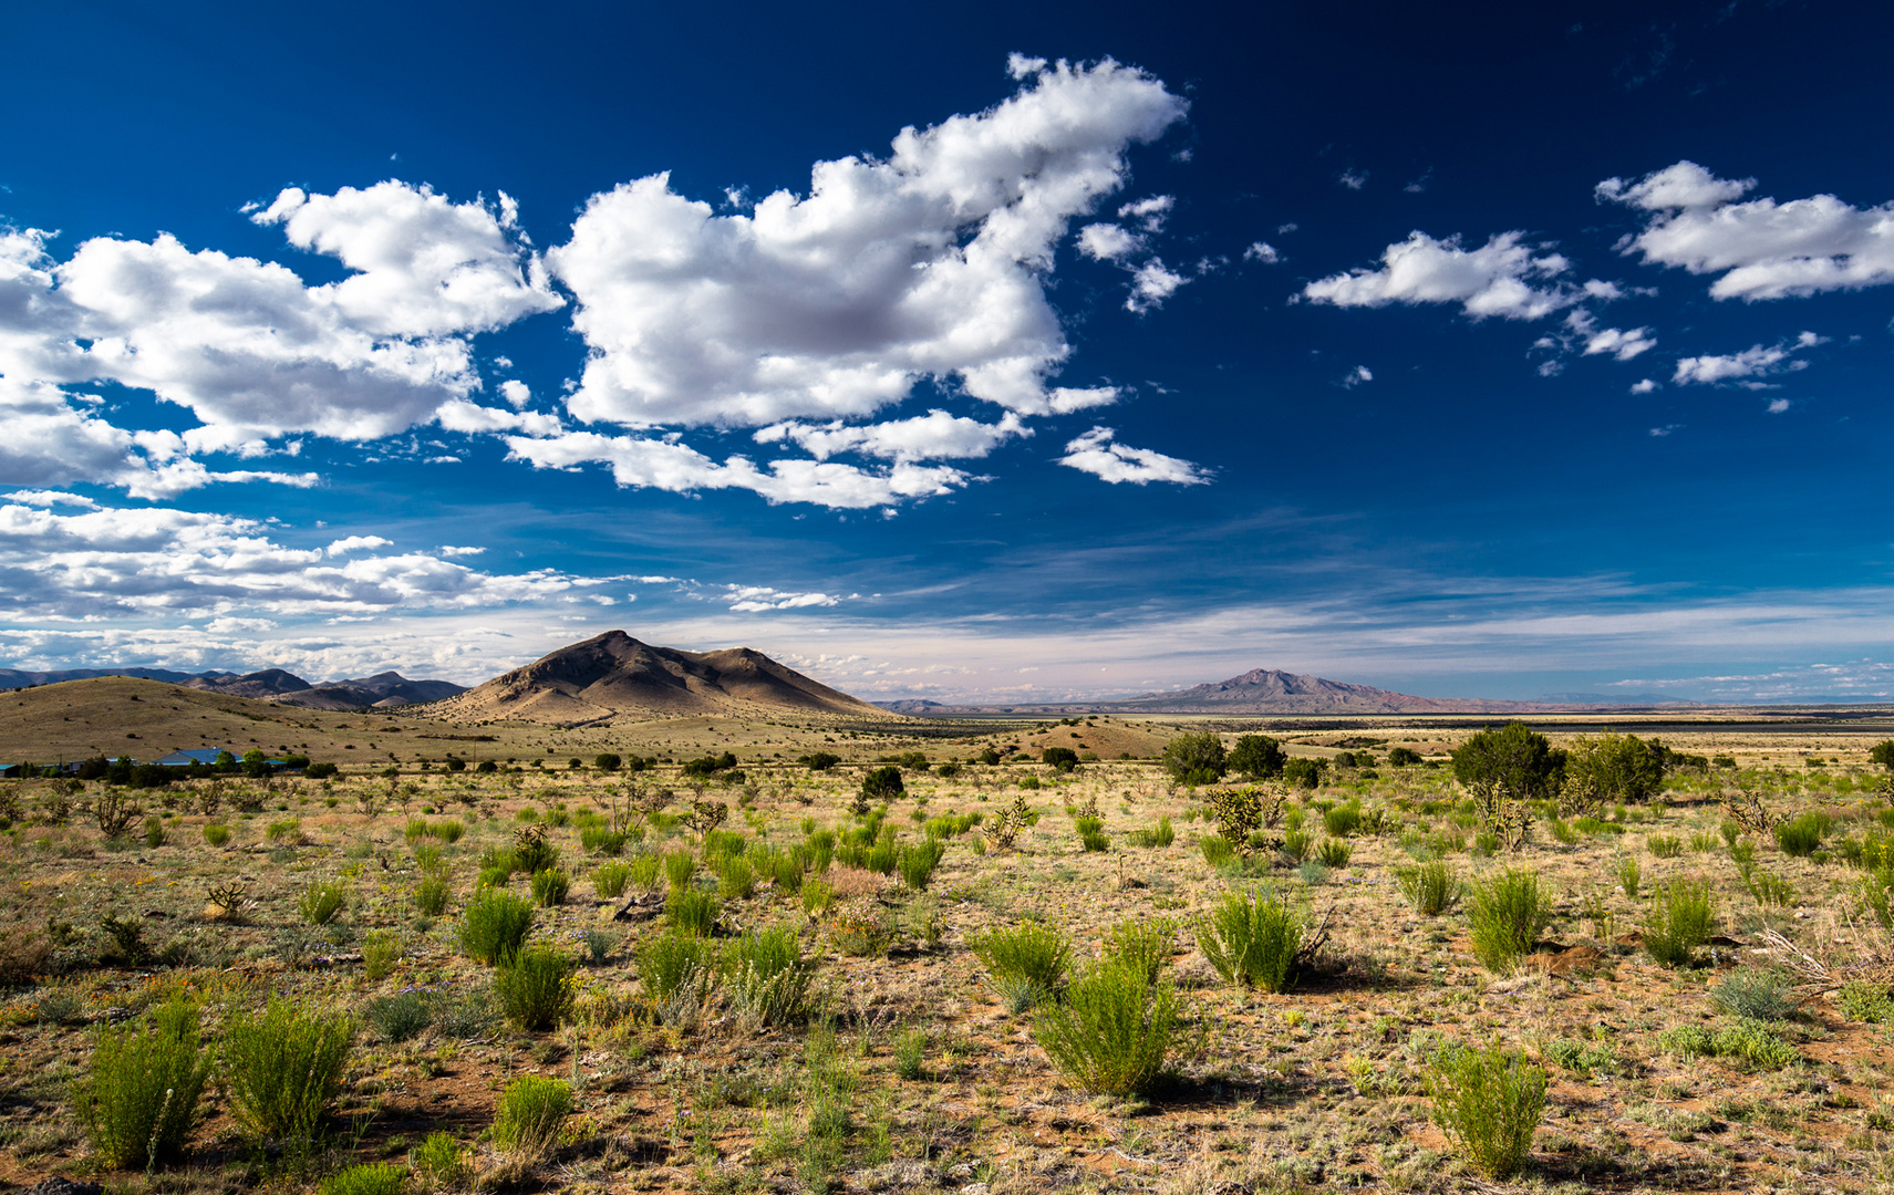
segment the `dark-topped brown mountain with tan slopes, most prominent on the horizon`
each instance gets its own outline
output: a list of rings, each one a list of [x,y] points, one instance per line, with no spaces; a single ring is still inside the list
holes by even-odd
[[[803,710],[881,714],[761,651],[680,651],[606,631],[434,706],[455,720],[602,722],[617,714],[693,716]]]

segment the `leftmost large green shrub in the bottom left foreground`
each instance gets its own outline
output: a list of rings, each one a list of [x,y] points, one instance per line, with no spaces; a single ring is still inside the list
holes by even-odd
[[[184,1153],[208,1078],[197,1004],[180,994],[125,1028],[93,1030],[74,1112],[110,1168],[157,1165]]]

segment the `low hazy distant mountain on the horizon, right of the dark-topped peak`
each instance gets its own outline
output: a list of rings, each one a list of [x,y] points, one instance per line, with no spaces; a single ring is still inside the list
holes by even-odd
[[[956,714],[1532,714],[1551,708],[1610,708],[1627,705],[1691,705],[1650,693],[1600,697],[1597,693],[1553,695],[1544,701],[1470,701],[1458,697],[1413,697],[1371,686],[1324,680],[1320,676],[1252,669],[1214,684],[1169,693],[1140,693],[1119,701],[1076,701],[1040,705],[943,705],[938,701],[879,701],[894,714],[913,718],[951,718]]]

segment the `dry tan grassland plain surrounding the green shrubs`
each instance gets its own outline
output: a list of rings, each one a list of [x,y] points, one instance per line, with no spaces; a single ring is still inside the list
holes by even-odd
[[[178,701],[167,714],[199,710],[199,720],[229,703]],[[311,733],[273,737],[282,746],[307,740],[318,758],[341,752],[316,748],[314,727],[369,722],[292,712],[271,725],[292,718]],[[402,723],[403,750],[430,725],[379,714],[373,723]],[[1653,805],[1616,811],[1589,831],[1542,818],[1532,845],[1489,858],[1447,769],[1385,765],[1331,773],[1324,790],[1290,805],[1311,852],[1330,837],[1326,809],[1358,803],[1369,818],[1379,811],[1377,833],[1339,839],[1345,864],[1297,865],[1265,850],[1214,867],[1201,850],[1214,831],[1201,814],[1206,794],[1170,786],[1153,763],[1112,761],[1119,752],[1155,754],[1174,727],[1112,720],[1002,725],[953,740],[841,725],[750,723],[733,735],[718,723],[676,723],[648,727],[638,740],[623,727],[616,737],[509,727],[517,739],[504,746],[521,767],[500,775],[364,771],[322,784],[218,780],[142,794],[161,845],[136,833],[104,843],[85,818],[97,784],[78,794],[64,824],[53,782],[6,784],[0,797],[15,809],[0,837],[0,962],[30,975],[15,973],[19,983],[0,990],[0,1182],[66,1174],[117,1191],[313,1191],[348,1163],[405,1163],[445,1131],[464,1150],[466,1172],[453,1182],[468,1189],[1883,1189],[1894,1182],[1894,1042],[1890,1026],[1864,1019],[1881,1008],[1864,1004],[1864,992],[1881,990],[1885,1004],[1888,936],[1862,913],[1867,871],[1845,858],[1894,833],[1879,775],[1866,765],[1867,746],[1885,737],[1877,729],[1886,727],[1705,725],[1665,735],[1682,750],[1771,765],[1775,809],[1830,820],[1814,856],[1792,858],[1773,839],[1741,835],[1737,854],[1754,848],[1748,875],[1722,833],[1727,771],[1678,776]],[[1438,761],[1462,733],[1407,723],[1286,737],[1305,756],[1373,739],[1364,750],[1377,756],[1407,744]],[[530,735],[551,754],[528,759]],[[322,742],[356,740],[364,750],[388,739]],[[634,778],[566,767],[568,756],[589,759],[606,744],[678,763],[727,746],[742,756],[744,778],[699,780],[693,790],[676,765]],[[686,820],[693,801],[724,803],[722,833],[742,835],[739,858],[765,867],[769,850],[807,845],[811,828],[862,824],[850,803],[866,758],[922,750],[939,763],[989,744],[1034,754],[1070,744],[1104,761],[1063,776],[1027,763],[975,763],[955,776],[903,769],[905,794],[884,812],[902,843],[924,841],[932,818],[979,814],[958,833],[938,826],[945,856],[924,890],[900,873],[835,860],[795,881],[805,894],[758,877],[754,892],[739,896],[741,884],[705,862],[705,835]],[[790,763],[809,750],[850,761],[826,773]],[[1822,763],[1811,765],[1811,756]],[[581,833],[589,828],[597,839],[599,818],[627,786],[648,795],[646,805],[657,805],[661,790],[670,797],[655,816],[631,818],[621,856],[587,852]],[[1008,850],[992,831],[1015,797],[1036,824]],[[1072,814],[1087,805],[1104,820],[1104,852],[1083,850],[1074,829]],[[464,837],[411,833],[413,818],[458,822]],[[1161,818],[1174,841],[1136,845],[1135,831]],[[223,847],[206,843],[210,824],[229,828]],[[489,996],[494,970],[472,962],[458,937],[483,854],[504,852],[527,826],[547,828],[572,881],[564,903],[538,909],[530,939],[580,962],[570,1015],[538,1032],[508,1025]],[[432,848],[449,892],[439,917],[417,909],[415,896],[419,856]],[[595,896],[593,877],[667,852],[699,858],[691,886],[712,896],[722,888],[725,941],[746,928],[794,930],[814,962],[807,1015],[763,1025],[744,1015],[727,983],[695,1008],[644,990],[634,962],[665,932],[665,871],[650,886],[633,879],[612,900]],[[735,843],[720,839],[716,858],[731,856]],[[1419,915],[1396,875],[1422,858],[1445,860],[1466,881],[1534,869],[1555,894],[1555,919],[1532,956],[1489,972],[1468,945],[1464,907]],[[1627,860],[1638,867],[1636,892],[1623,883]],[[1652,894],[1678,879],[1708,881],[1716,937],[1695,964],[1669,968],[1640,949],[1640,928]],[[299,903],[320,883],[341,886],[345,909],[311,926]],[[220,884],[241,888],[237,909],[208,903]],[[1220,979],[1191,930],[1224,894],[1256,884],[1330,928],[1316,964],[1282,994]],[[820,900],[807,892],[818,886],[833,892],[833,905],[811,909]],[[528,883],[515,875],[508,888],[525,894]],[[127,956],[102,928],[108,917],[121,919],[121,936],[142,936],[136,945],[150,954]],[[1165,926],[1165,983],[1178,992],[1182,1023],[1148,1093],[1078,1091],[1038,1045],[1034,1013],[1002,1000],[968,943],[1025,919],[1070,936],[1080,960],[1112,926]],[[388,943],[398,947],[392,960]],[[1780,1051],[1693,1057],[1678,1045],[1684,1026],[1729,1025],[1712,994],[1744,968],[1777,968],[1794,985],[1794,1015],[1761,1030],[1792,1061]],[[258,1142],[212,1085],[182,1161],[100,1170],[70,1087],[100,1026],[180,989],[203,1002],[212,1045],[231,1013],[271,992],[356,1015],[343,1091],[314,1148]],[[422,994],[432,1023],[394,1040],[390,1006],[375,1002],[403,992]],[[1547,1070],[1546,1119],[1519,1176],[1477,1176],[1432,1121],[1426,1061],[1443,1042],[1511,1045]],[[519,1155],[487,1131],[500,1091],[528,1074],[570,1083],[576,1112],[549,1150]]]

